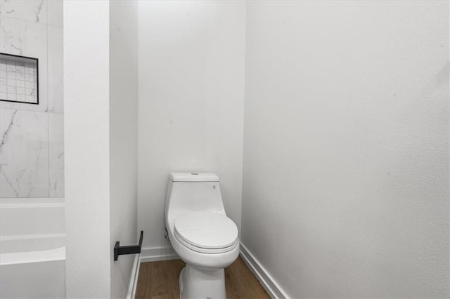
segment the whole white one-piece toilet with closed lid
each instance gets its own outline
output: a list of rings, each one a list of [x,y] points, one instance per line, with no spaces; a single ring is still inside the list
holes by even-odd
[[[186,267],[181,298],[226,298],[224,268],[239,255],[238,227],[226,217],[214,173],[170,173],[165,201],[167,234]]]

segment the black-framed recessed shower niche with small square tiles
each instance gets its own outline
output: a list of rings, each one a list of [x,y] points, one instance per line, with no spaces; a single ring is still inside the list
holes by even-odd
[[[0,53],[0,100],[39,105],[37,58]]]

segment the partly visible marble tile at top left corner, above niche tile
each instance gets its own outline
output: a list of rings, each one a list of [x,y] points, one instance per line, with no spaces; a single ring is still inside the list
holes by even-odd
[[[29,22],[47,23],[46,0],[1,0],[1,18],[9,17]]]

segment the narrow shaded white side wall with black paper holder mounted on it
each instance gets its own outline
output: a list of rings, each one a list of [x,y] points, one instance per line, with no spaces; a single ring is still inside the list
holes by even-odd
[[[110,2],[110,251],[138,243],[138,4]],[[111,297],[125,298],[136,255],[111,262]]]

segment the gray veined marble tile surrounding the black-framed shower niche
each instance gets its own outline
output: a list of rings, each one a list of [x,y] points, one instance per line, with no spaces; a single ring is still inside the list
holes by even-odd
[[[47,84],[47,26],[2,17],[0,20],[0,51],[39,59],[39,105],[0,102],[0,107],[47,111],[49,93]]]

